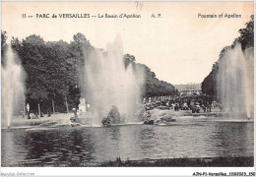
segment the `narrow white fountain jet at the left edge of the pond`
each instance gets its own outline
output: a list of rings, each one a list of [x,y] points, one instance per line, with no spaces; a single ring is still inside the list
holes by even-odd
[[[5,64],[2,65],[2,125],[10,128],[13,115],[18,115],[24,106],[23,69],[11,45],[7,46]],[[5,119],[3,119],[3,117]],[[6,120],[7,122],[3,122]]]

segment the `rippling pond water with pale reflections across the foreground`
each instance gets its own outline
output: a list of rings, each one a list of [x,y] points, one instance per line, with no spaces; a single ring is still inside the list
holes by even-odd
[[[116,157],[253,156],[253,123],[208,119],[184,118],[171,126],[2,130],[2,166],[87,166]]]

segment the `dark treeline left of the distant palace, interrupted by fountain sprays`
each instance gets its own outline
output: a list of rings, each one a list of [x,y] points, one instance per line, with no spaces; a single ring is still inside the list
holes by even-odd
[[[1,34],[1,61],[4,65],[7,35],[5,31],[1,31]],[[39,35],[32,34],[22,40],[13,37],[11,45],[25,70],[26,102],[30,103],[33,111],[37,110],[39,103],[43,112],[66,112],[78,107],[81,96],[90,103],[90,95],[83,92],[87,90],[84,88],[87,87],[85,64],[96,48],[84,34],[75,34],[70,43],[63,40],[44,41]],[[135,61],[133,55],[124,55],[125,67],[132,64],[134,68],[145,71],[143,96],[169,95],[174,92],[172,85],[160,81],[149,67]]]

